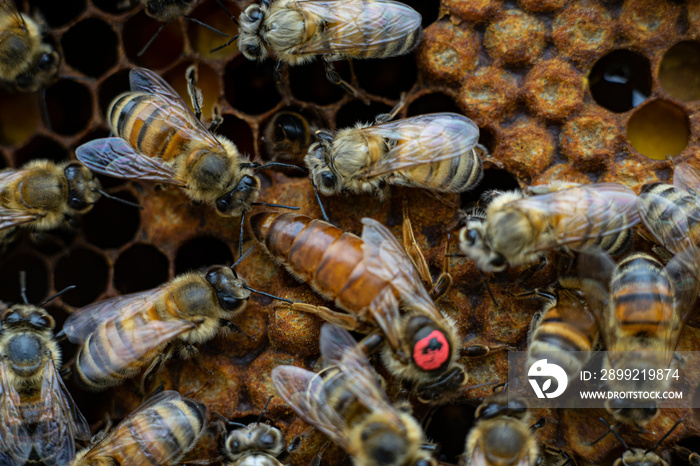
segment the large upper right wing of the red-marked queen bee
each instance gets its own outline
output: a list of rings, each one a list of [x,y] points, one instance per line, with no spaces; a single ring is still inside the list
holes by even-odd
[[[367,270],[391,283],[399,292],[400,298],[411,303],[412,307],[423,309],[435,319],[442,319],[442,314],[425,291],[413,262],[391,231],[371,218],[363,218],[362,225],[363,254]],[[385,296],[384,299],[389,298]],[[387,320],[381,315],[386,309],[390,308],[381,305],[372,311],[378,323]],[[382,331],[388,334],[391,329],[382,327]]]

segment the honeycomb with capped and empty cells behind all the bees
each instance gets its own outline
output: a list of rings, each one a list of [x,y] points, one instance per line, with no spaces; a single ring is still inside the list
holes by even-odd
[[[38,93],[0,90],[0,168],[37,158],[74,159],[75,147],[107,136],[106,108],[128,90],[128,72],[134,66],[153,69],[186,95],[185,69],[198,64],[204,115],[218,103],[224,116],[218,132],[260,160],[275,157],[266,149],[265,134],[271,134],[266,129],[281,111],[303,114],[315,127],[342,128],[372,121],[405,93],[400,117],[438,111],[466,114],[480,126],[481,142],[491,152],[484,181],[474,191],[436,197],[395,189],[384,203],[369,196],[324,200],[329,216],[342,229],[359,234],[360,219],[372,217],[397,236],[402,202],[408,200],[416,238],[435,276],[443,255],[457,251],[455,235],[448,232],[459,224],[459,209],[472,206],[488,189],[560,179],[615,181],[638,192],[645,183],[668,181],[674,164],[698,159],[698,0],[407,0],[423,15],[425,28],[413,56],[336,65],[343,79],[366,93],[369,105],[328,83],[320,63],[284,67],[280,92],[273,62],[249,62],[235,45],[211,54],[222,38],[185,20],[170,23],[138,56],[160,27],[140,6],[122,8],[123,2],[113,0],[17,3],[22,11],[44,18],[62,63],[58,78],[46,89],[50,125],[42,118]],[[243,1],[225,3],[236,16],[247,6]],[[191,16],[230,35],[236,32],[213,0],[198,2]],[[100,49],[92,52],[85,43],[99,44]],[[669,155],[673,162],[666,160]],[[320,216],[303,173],[269,170],[260,178],[260,200],[299,206],[306,215]],[[176,189],[101,181],[107,192],[138,202],[144,210],[102,199],[73,231],[39,239],[22,236],[0,259],[0,280],[5,284],[0,300],[20,301],[21,270],[27,272],[30,302],[76,285],[48,306],[60,326],[74,309],[96,300],[153,288],[184,271],[231,264],[238,257],[238,219],[192,205]],[[243,247],[251,245],[247,240]],[[638,238],[635,246],[650,245]],[[323,304],[307,285],[296,282],[257,248],[237,270],[256,289]],[[552,265],[524,282],[517,271],[488,277],[496,307],[472,263],[454,258],[450,271],[454,285],[440,305],[457,322],[464,345],[521,350],[539,304],[513,295],[546,286],[559,273]],[[700,329],[693,323],[686,327],[680,349],[700,350]],[[315,317],[255,295],[236,324],[240,332],[202,345],[197,359],[168,362],[156,384],[245,423],[255,420],[274,394],[273,367],[315,367],[321,325]],[[65,344],[63,349],[64,359],[70,361],[75,348]],[[503,351],[463,357],[462,362],[469,387],[475,388],[448,405],[415,406],[428,436],[440,445],[442,464],[456,462],[480,399],[507,374]],[[696,387],[700,371],[686,372],[691,374],[689,384]],[[141,401],[135,383],[99,394],[68,385],[93,432],[106,417],[118,421]],[[390,396],[404,396],[398,384],[389,387]],[[589,445],[605,431],[600,416],[609,418],[604,410],[533,414],[534,419],[547,419],[537,431],[540,443],[584,465],[611,464],[623,451],[613,436]],[[700,440],[700,418],[690,410],[667,410],[645,431],[623,427],[620,432],[630,446],[649,448],[680,417],[685,421],[657,450],[671,457],[673,445],[693,448]],[[265,418],[294,443],[292,464],[309,464],[317,455],[322,464],[347,462],[342,451],[298,420],[281,399],[272,400]],[[210,430],[186,460],[219,461],[218,433],[214,427]],[[674,460],[685,464],[677,456]]]

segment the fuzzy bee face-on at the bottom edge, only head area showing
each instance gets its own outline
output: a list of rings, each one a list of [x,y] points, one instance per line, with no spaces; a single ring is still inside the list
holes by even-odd
[[[272,400],[270,397],[267,403]],[[276,427],[260,422],[267,403],[256,422],[248,425],[224,420],[237,427],[226,435],[223,454],[225,466],[282,466],[277,457],[284,450],[282,432]]]

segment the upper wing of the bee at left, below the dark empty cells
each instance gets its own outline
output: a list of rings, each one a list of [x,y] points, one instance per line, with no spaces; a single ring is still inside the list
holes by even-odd
[[[100,324],[119,316],[128,318],[149,309],[165,291],[166,286],[162,285],[152,290],[115,296],[85,306],[68,316],[63,324],[63,331],[71,343],[84,343]]]

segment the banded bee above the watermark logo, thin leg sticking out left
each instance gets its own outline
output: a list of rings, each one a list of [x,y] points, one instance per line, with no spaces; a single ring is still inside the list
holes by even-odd
[[[533,293],[546,302],[539,317],[532,321],[526,367],[549,359],[563,368],[571,380],[588,362],[598,341],[598,324],[580,288],[577,279],[567,277],[561,278],[559,285],[551,290]]]

